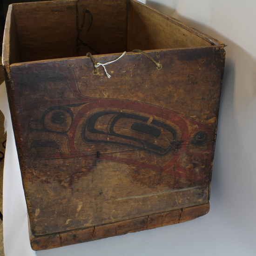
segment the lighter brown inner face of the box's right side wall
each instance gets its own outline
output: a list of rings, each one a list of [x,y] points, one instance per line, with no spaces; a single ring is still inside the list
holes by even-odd
[[[220,45],[199,31],[138,1],[128,1],[128,51]]]

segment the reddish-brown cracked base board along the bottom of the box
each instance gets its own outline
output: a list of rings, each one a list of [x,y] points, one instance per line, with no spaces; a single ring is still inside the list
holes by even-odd
[[[127,233],[187,222],[206,215],[208,212],[209,202],[183,209],[133,218],[126,221],[92,226],[85,229],[56,232],[54,234],[41,236],[34,236],[29,227],[30,243],[34,250],[53,249],[71,244],[90,242],[111,236],[120,236]]]

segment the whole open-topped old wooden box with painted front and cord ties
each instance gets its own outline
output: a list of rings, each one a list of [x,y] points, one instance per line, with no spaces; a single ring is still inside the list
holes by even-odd
[[[33,249],[209,211],[224,46],[135,0],[9,7],[3,64]]]

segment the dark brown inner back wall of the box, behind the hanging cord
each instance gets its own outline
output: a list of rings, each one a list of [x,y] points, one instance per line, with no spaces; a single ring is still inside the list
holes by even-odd
[[[127,5],[126,0],[79,1],[79,27],[86,15],[80,38],[98,53],[108,54],[126,50]],[[38,61],[77,56],[76,1],[46,1],[13,5],[20,61]],[[79,55],[94,51],[80,45]]]

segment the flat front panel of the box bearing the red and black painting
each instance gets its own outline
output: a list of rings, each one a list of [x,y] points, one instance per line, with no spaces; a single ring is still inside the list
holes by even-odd
[[[207,202],[223,48],[149,54],[162,69],[130,53],[107,66],[110,79],[88,57],[11,65],[35,235]]]

